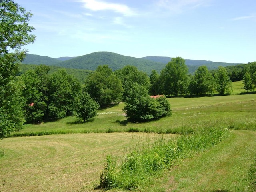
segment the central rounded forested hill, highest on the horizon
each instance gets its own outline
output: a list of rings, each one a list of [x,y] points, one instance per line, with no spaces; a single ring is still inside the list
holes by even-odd
[[[143,58],[123,56],[111,52],[94,52],[91,54],[66,60],[64,62],[56,63],[55,65],[65,68],[88,70],[96,70],[99,65],[108,65],[112,70],[118,70],[126,65],[132,65],[136,66],[139,70],[142,70],[148,74],[151,73],[152,69],[160,72],[165,66],[165,64],[161,62],[154,62]]]

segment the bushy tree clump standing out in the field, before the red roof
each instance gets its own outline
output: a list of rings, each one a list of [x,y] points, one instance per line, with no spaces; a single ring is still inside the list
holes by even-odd
[[[170,116],[170,103],[164,96],[154,99],[148,95],[148,89],[138,83],[132,84],[128,91],[124,112],[134,122],[148,121],[162,116]]]

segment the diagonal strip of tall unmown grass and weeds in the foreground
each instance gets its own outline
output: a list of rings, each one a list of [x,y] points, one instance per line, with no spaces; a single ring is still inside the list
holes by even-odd
[[[133,150],[120,165],[117,164],[116,157],[107,156],[99,188],[138,188],[150,175],[170,168],[177,160],[188,158],[194,152],[211,148],[227,137],[228,133],[224,128],[208,127],[193,134],[178,136],[175,140],[162,137],[152,146]]]

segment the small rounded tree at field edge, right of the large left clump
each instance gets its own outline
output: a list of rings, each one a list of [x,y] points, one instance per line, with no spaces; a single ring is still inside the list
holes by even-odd
[[[93,118],[97,115],[99,104],[94,101],[88,93],[83,90],[75,99],[75,111],[78,119],[85,122],[87,119]]]

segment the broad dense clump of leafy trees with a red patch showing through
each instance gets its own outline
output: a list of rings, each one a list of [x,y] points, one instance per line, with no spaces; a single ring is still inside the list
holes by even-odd
[[[26,84],[23,96],[27,123],[60,119],[74,111],[74,98],[81,84],[65,69],[53,74],[48,74],[49,70],[49,66],[40,65],[21,76]]]

